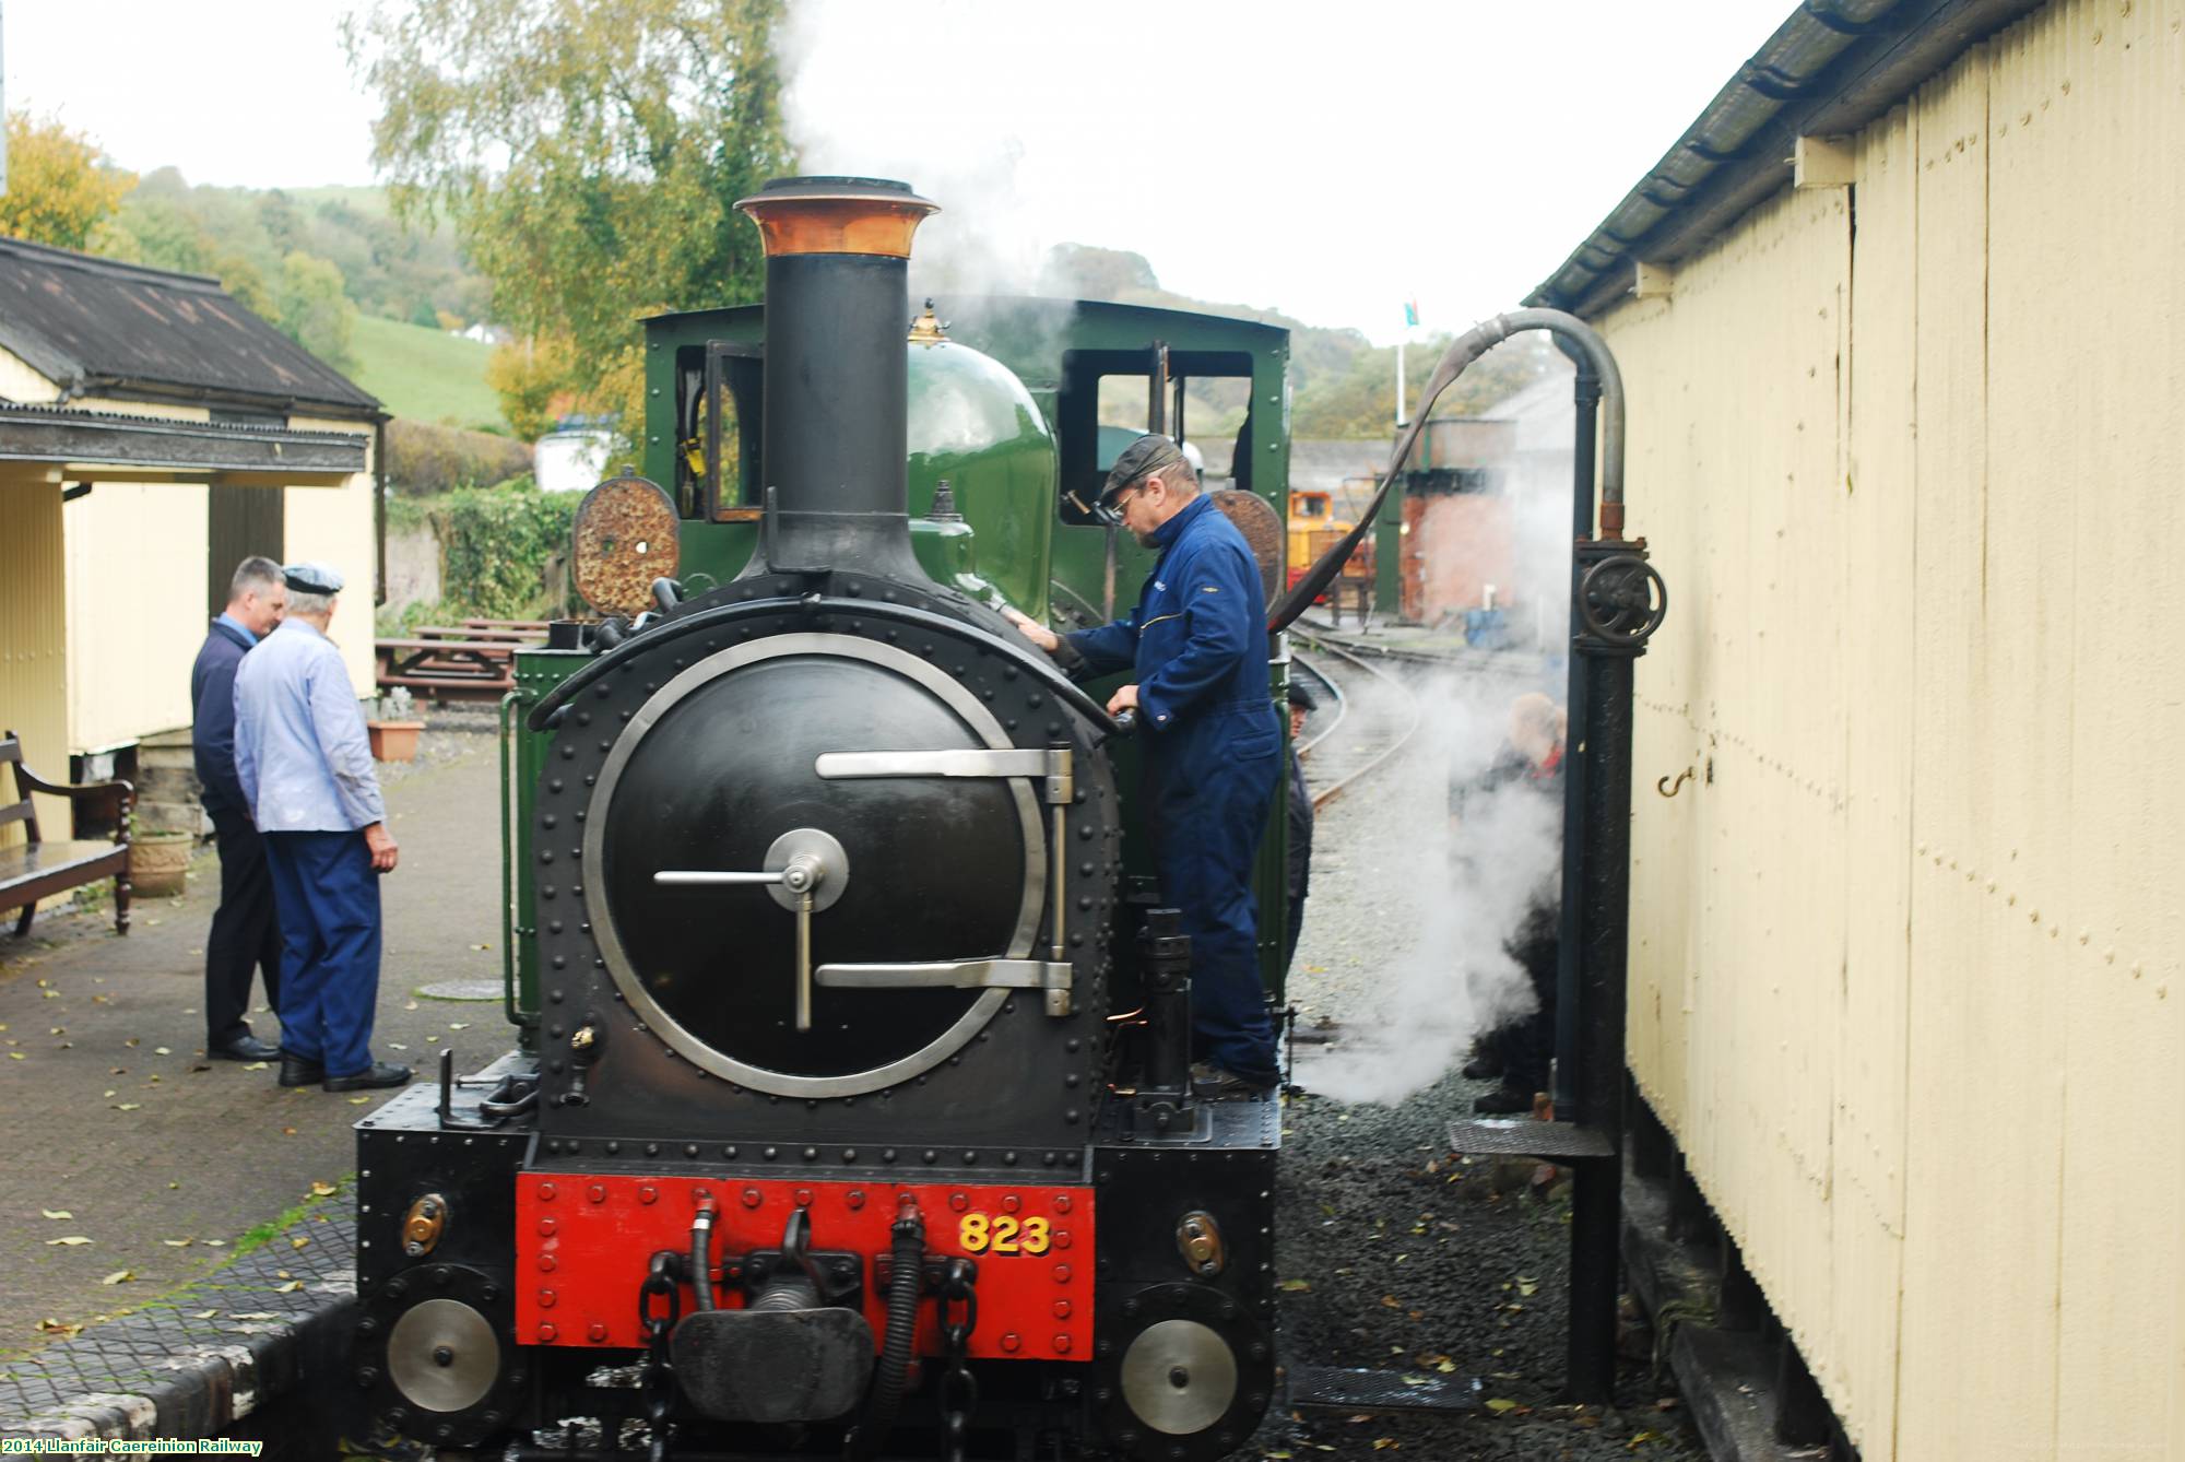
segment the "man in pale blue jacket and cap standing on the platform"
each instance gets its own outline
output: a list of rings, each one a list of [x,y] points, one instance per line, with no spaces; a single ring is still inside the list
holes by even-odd
[[[288,564],[288,616],[236,671],[236,780],[267,841],[282,929],[280,1084],[402,1086],[371,1060],[380,885],[393,872],[350,667],[326,638],[341,575]]]

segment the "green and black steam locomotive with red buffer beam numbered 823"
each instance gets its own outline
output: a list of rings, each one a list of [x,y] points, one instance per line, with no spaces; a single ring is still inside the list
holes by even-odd
[[[1287,337],[957,299],[905,339],[933,203],[739,208],[765,306],[647,321],[645,474],[577,520],[618,614],[503,708],[518,1045],[358,1123],[352,1379],[509,1455],[1228,1453],[1276,1386],[1278,1106],[1193,1097],[1134,743],[1001,610],[1114,612],[1114,402],[1182,439],[1206,376],[1278,588]]]

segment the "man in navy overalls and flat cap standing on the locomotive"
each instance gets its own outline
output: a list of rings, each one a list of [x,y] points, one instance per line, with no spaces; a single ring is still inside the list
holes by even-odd
[[[1136,710],[1149,736],[1154,861],[1191,935],[1193,1075],[1206,1095],[1259,1095],[1280,1064],[1259,979],[1252,861],[1283,774],[1259,564],[1167,437],[1138,437],[1117,457],[1101,505],[1160,551],[1138,608],[1068,636],[1014,618],[1088,675],[1136,667],[1108,712]]]

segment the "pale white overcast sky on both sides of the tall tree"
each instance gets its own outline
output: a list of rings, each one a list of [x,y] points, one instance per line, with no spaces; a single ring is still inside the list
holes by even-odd
[[[7,105],[127,168],[376,181],[352,0],[0,0]],[[1020,273],[1136,249],[1167,288],[1315,326],[1514,306],[1790,0],[789,0],[811,170],[902,177],[922,247]]]

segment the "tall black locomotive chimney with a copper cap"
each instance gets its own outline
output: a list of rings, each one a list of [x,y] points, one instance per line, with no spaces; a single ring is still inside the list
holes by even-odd
[[[922,579],[911,553],[911,234],[935,203],[878,177],[782,177],[736,208],[767,247],[760,483],[767,540],[745,573]]]

